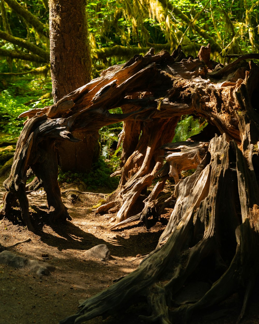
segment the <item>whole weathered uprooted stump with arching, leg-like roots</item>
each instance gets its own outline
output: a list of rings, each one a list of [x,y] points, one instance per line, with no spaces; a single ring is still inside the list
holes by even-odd
[[[71,132],[91,134],[118,121],[124,121],[121,181],[97,212],[116,212],[115,228],[159,217],[175,200],[157,249],[136,271],[87,299],[78,313],[60,323],[114,314],[140,294],[148,296],[152,309],[145,319],[186,323],[196,310],[213,306],[240,288],[244,302],[238,321],[243,317],[259,270],[259,68],[244,60],[259,55],[243,55],[223,66],[209,60],[209,50],[203,47],[194,59],[180,47],[172,55],[154,54],[151,49],[144,57],[135,55],[126,64],[108,68],[55,105],[21,115],[29,119],[4,183],[2,217],[15,219],[18,199],[22,218],[33,230],[26,191],[43,186],[51,221],[69,218],[56,180],[55,144],[77,141]],[[123,113],[109,112],[116,107]],[[208,126],[190,141],[170,144],[177,122],[186,114],[204,118]],[[178,173],[186,168],[196,171],[179,181]],[[26,185],[31,170],[36,178]],[[143,210],[136,213],[135,202],[157,176],[157,184],[144,197]],[[170,176],[175,190],[161,204],[157,197]],[[204,270],[204,263],[210,267]],[[199,301],[174,304],[198,268],[214,283]]]

